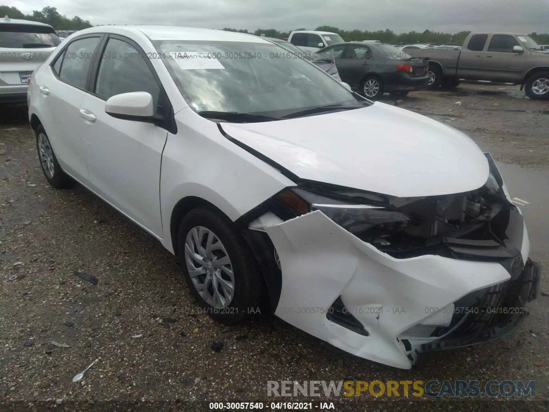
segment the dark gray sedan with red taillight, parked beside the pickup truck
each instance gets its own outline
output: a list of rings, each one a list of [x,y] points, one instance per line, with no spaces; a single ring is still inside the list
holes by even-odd
[[[411,57],[389,44],[338,43],[318,53],[332,54],[341,80],[369,99],[385,92],[405,96],[429,85],[428,60]]]

